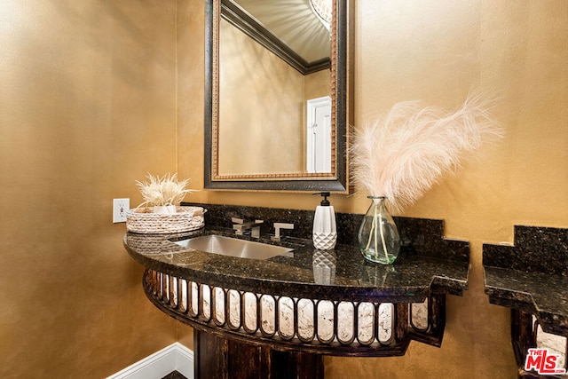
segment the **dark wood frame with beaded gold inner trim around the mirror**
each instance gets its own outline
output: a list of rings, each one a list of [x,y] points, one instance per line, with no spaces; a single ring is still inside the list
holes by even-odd
[[[205,22],[205,164],[204,188],[210,190],[349,192],[349,126],[352,96],[352,1],[335,0],[332,25],[331,89],[334,172],[331,174],[269,174],[238,177],[217,172],[218,25],[224,0],[207,0]],[[335,145],[335,146],[334,146]]]

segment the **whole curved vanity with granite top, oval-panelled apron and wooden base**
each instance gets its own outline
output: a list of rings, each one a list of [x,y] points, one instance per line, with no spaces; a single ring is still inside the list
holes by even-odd
[[[205,207],[211,211],[204,229],[126,233],[123,240],[146,267],[150,301],[194,328],[196,378],[316,378],[323,377],[326,354],[403,355],[412,340],[439,346],[446,294],[461,296],[468,286],[469,244],[444,239],[442,221],[398,218],[401,253],[394,265],[375,265],[344,238],[326,251],[294,235],[280,242],[237,236],[209,225],[224,206]],[[309,213],[280,211],[310,223]],[[338,214],[338,225],[359,225],[357,217]],[[251,258],[192,245],[211,235],[260,242],[261,252],[284,249]]]

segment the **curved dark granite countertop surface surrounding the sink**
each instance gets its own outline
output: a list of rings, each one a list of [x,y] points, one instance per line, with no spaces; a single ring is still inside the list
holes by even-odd
[[[276,296],[414,303],[432,293],[461,296],[468,287],[469,260],[445,258],[443,251],[436,257],[436,252],[422,255],[404,246],[394,265],[385,266],[367,262],[356,246],[320,251],[312,241],[292,237],[279,243],[261,239],[294,249],[294,257],[267,260],[210,254],[173,242],[207,233],[237,238],[231,230],[208,227],[176,234],[126,233],[123,243],[130,256],[146,268],[209,286]],[[314,265],[327,265],[335,276],[322,281],[314,274]]]

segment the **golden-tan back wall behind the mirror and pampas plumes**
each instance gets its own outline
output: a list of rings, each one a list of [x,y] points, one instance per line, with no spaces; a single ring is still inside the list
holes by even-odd
[[[516,224],[568,227],[568,2],[357,0],[355,18],[356,125],[401,100],[455,107],[477,88],[501,96],[494,114],[507,136],[405,212],[443,218],[448,238],[471,244],[469,290],[448,296],[442,347],[413,342],[404,357],[327,358],[326,377],[515,378],[509,311],[484,295],[481,249],[484,242],[512,241]],[[180,170],[202,180],[197,162],[186,162],[195,161],[181,154]],[[279,208],[317,205],[312,195],[296,193],[193,196]],[[331,201],[344,212],[368,206],[365,193]]]

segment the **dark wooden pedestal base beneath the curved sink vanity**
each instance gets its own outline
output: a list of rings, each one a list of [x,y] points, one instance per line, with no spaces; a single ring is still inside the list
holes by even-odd
[[[319,354],[278,351],[270,346],[245,343],[195,329],[196,379],[322,379]]]

